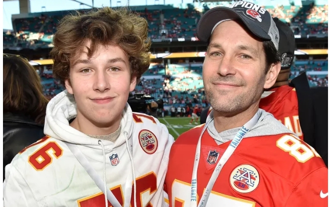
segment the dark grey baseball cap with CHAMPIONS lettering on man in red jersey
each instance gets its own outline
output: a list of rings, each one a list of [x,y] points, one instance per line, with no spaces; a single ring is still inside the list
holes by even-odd
[[[247,1],[238,1],[229,7],[214,7],[205,12],[197,24],[197,38],[208,42],[216,26],[232,19],[241,20],[262,40],[271,40],[278,50],[279,34],[271,14],[265,8]]]

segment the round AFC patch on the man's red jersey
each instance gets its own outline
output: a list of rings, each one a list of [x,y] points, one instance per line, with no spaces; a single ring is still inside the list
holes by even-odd
[[[258,170],[250,164],[242,164],[231,172],[229,183],[232,189],[239,193],[251,193],[260,182]]]

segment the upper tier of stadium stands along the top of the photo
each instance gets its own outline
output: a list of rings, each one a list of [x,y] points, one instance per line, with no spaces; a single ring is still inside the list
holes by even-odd
[[[196,25],[203,12],[214,6],[228,6],[228,2],[190,4],[185,8],[136,11],[149,22],[151,39],[196,37]],[[328,5],[264,6],[273,17],[287,22],[295,35],[328,34]],[[53,34],[62,13],[18,18],[13,20],[14,32],[3,32],[6,47],[51,47]]]

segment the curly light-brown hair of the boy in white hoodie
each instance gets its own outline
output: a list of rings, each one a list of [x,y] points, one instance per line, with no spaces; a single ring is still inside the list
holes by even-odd
[[[128,8],[103,7],[85,14],[64,16],[54,35],[50,55],[53,75],[64,85],[69,79],[70,59],[91,41],[88,57],[101,45],[118,45],[129,57],[131,77],[140,80],[150,65],[148,22]]]

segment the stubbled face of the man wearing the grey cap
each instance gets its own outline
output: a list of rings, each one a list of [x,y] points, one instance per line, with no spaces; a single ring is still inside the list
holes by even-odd
[[[203,64],[206,97],[224,114],[237,114],[259,104],[266,80],[262,42],[237,21],[222,22],[213,31]]]

